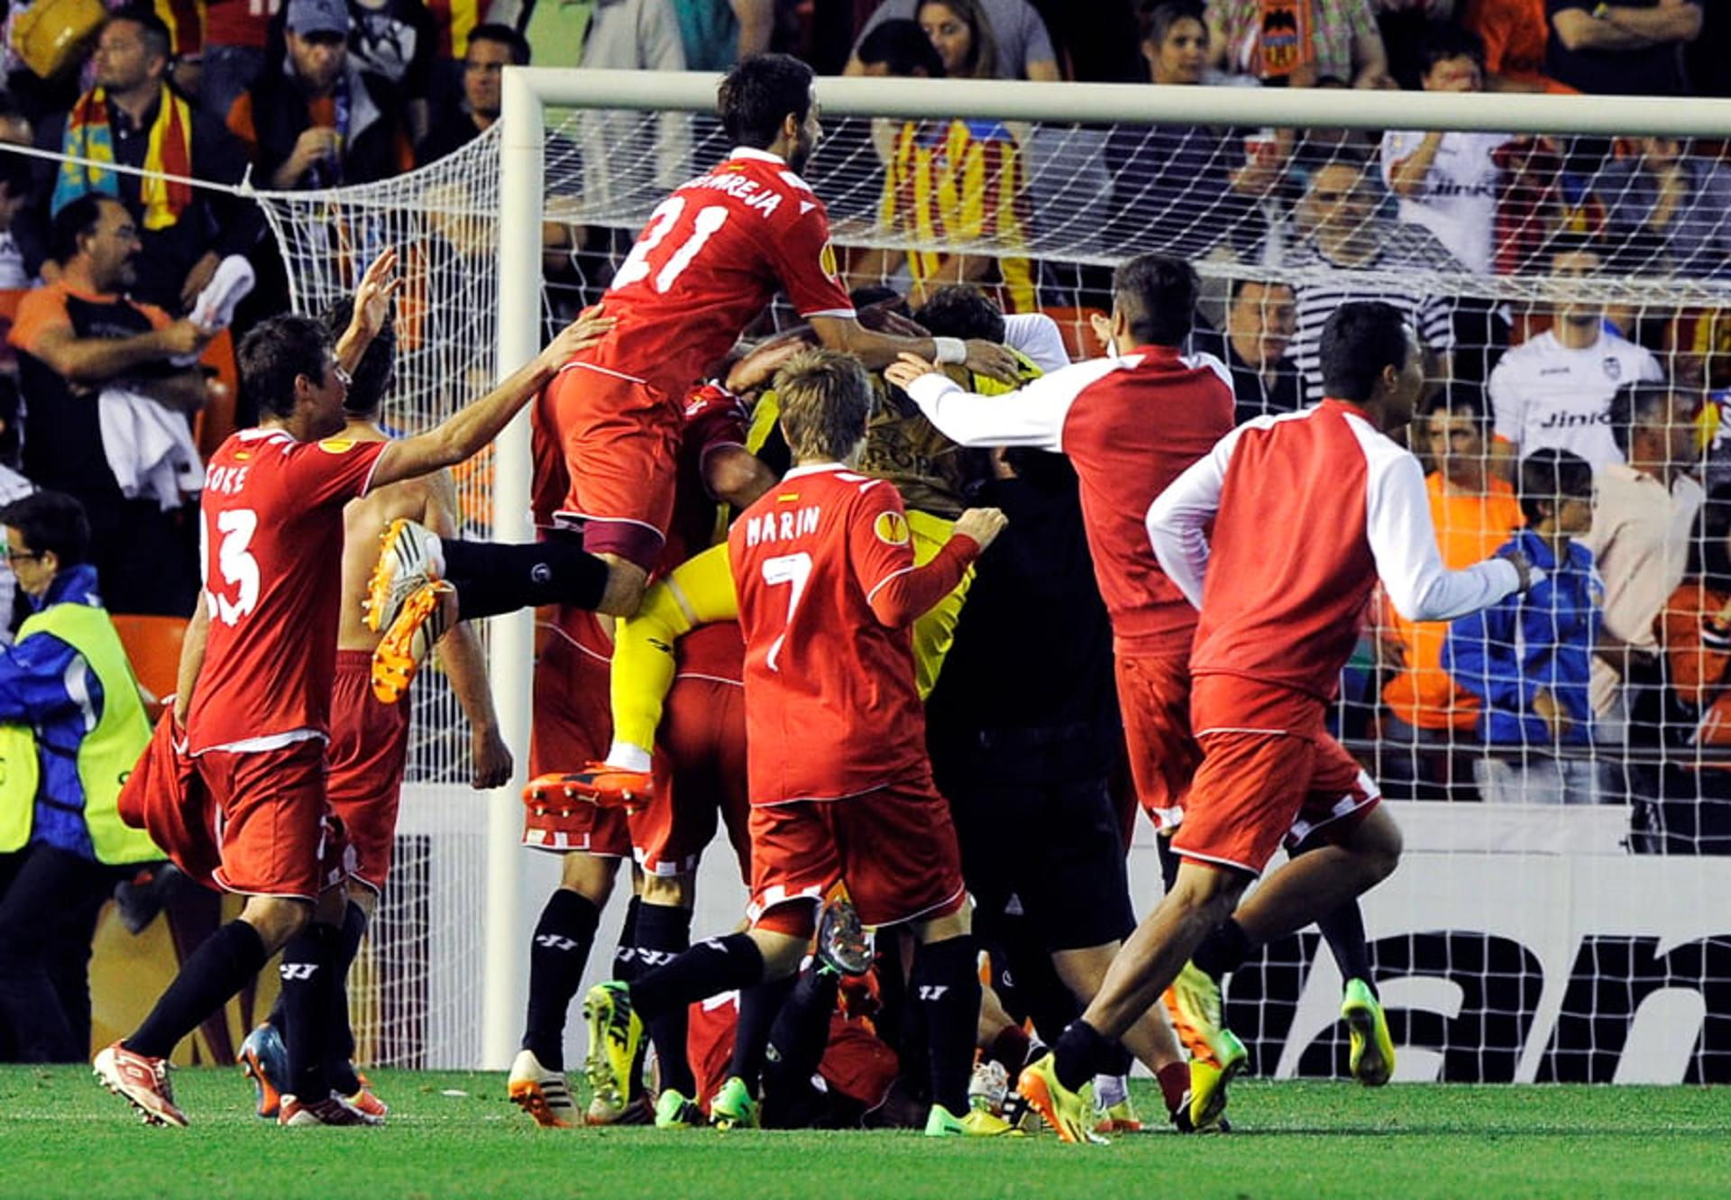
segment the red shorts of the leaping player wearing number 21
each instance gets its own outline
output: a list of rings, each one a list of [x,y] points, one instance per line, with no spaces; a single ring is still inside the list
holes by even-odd
[[[680,405],[611,364],[571,362],[535,402],[535,516],[590,554],[654,570],[673,518]],[[554,500],[563,481],[566,494]]]

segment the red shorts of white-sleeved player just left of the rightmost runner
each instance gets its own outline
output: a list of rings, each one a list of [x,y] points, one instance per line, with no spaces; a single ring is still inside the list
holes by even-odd
[[[1170,829],[1184,819],[1184,802],[1201,762],[1201,746],[1189,724],[1189,651],[1118,655],[1116,674],[1136,797],[1156,829]]]

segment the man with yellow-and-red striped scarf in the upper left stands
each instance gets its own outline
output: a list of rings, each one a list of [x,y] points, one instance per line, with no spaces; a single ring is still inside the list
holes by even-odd
[[[43,125],[43,140],[92,163],[239,184],[246,149],[222,121],[166,81],[170,35],[151,9],[121,9],[97,36],[97,87],[64,119]],[[50,213],[80,196],[119,196],[140,215],[137,300],[185,312],[227,255],[246,255],[261,220],[251,201],[227,190],[62,163]]]

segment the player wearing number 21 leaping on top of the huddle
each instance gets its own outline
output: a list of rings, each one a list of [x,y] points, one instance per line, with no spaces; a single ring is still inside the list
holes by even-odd
[[[419,665],[424,618],[405,604],[433,578],[455,585],[460,618],[550,603],[635,613],[672,516],[685,395],[777,291],[822,345],[867,365],[909,352],[1016,379],[1014,357],[990,341],[900,338],[859,322],[824,204],[798,175],[822,133],[808,66],[751,55],[722,81],[718,109],[734,151],[654,210],[604,296],[613,332],[564,364],[535,405],[537,521],[582,528],[582,549],[441,542],[403,526],[383,547],[374,587],[374,622],[395,625],[383,674]]]

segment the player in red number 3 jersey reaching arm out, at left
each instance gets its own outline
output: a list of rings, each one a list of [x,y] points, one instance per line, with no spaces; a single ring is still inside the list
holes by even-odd
[[[362,281],[353,336],[341,343],[350,364],[384,320],[395,263],[386,251]],[[203,802],[203,812],[189,821],[180,797],[147,797],[142,809],[145,828],[183,869],[246,895],[246,906],[187,959],[144,1023],[95,1058],[97,1079],[145,1120],[187,1124],[173,1103],[168,1055],[282,949],[293,1093],[279,1120],[376,1122],[332,1094],[322,1044],[346,904],[341,829],[325,800],[343,506],[478,452],[608,324],[578,320],[495,391],[400,442],[334,438],[348,376],[319,322],[275,317],[241,343],[241,381],[265,417],[230,436],[206,469],[206,590],[187,630],[173,710],[201,793],[187,800]],[[213,861],[215,869],[201,869]]]

